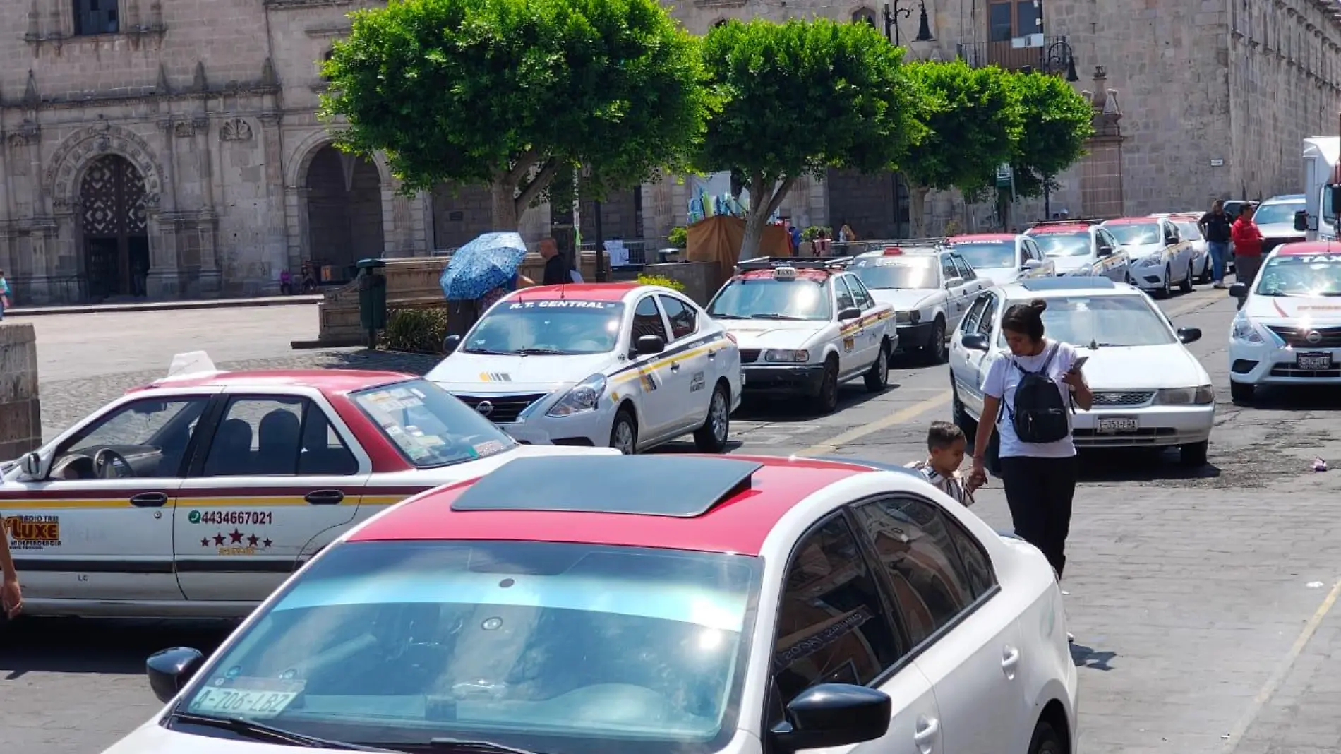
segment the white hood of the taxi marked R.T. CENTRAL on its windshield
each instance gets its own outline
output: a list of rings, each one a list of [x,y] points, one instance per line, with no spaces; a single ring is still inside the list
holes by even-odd
[[[582,356],[453,353],[425,374],[425,378],[451,393],[472,396],[548,393],[603,372],[613,360],[611,353]]]

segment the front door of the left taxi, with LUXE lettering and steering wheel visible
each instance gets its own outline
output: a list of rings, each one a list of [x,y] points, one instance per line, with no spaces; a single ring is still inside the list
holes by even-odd
[[[212,393],[114,404],[59,439],[40,480],[0,494],[24,594],[38,600],[181,600],[173,518]],[[119,472],[95,475],[95,459]],[[4,535],[4,534],[0,534]]]

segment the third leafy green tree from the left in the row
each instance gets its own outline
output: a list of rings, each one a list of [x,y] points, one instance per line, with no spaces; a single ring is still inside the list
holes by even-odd
[[[996,169],[1015,153],[1023,117],[1014,74],[995,66],[974,68],[963,60],[907,66],[921,91],[921,122],[929,131],[898,162],[911,191],[915,235],[927,232],[927,195],[959,189],[966,197],[986,192]]]

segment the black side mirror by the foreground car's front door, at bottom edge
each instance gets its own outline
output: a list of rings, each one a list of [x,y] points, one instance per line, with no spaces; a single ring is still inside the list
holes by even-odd
[[[893,702],[884,691],[821,683],[787,703],[787,718],[768,731],[778,751],[829,749],[876,741],[889,733]]]

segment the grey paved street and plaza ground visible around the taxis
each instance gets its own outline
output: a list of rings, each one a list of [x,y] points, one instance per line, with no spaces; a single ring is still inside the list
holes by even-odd
[[[1341,466],[1341,437],[1330,429],[1341,396],[1267,393],[1258,407],[1231,405],[1224,342],[1232,303],[1202,290],[1164,309],[1179,326],[1206,331],[1191,349],[1220,390],[1211,466],[1191,474],[1172,453],[1085,456],[1066,582],[1084,750],[1337,750],[1341,475],[1314,474],[1310,463],[1322,456]],[[310,307],[99,317],[34,319],[48,436],[162,374],[177,350],[204,347],[229,366],[432,364],[290,352],[290,339],[315,331]],[[89,322],[111,337],[90,346]],[[787,405],[747,405],[734,423],[735,452],[912,460],[925,424],[948,417],[947,369],[896,365],[890,377],[894,389],[880,396],[848,388],[841,411],[821,420]],[[979,514],[1008,527],[999,484],[979,498]],[[99,751],[157,708],[142,678],[148,652],[209,648],[227,629],[20,620],[0,633],[0,741],[25,754]]]

